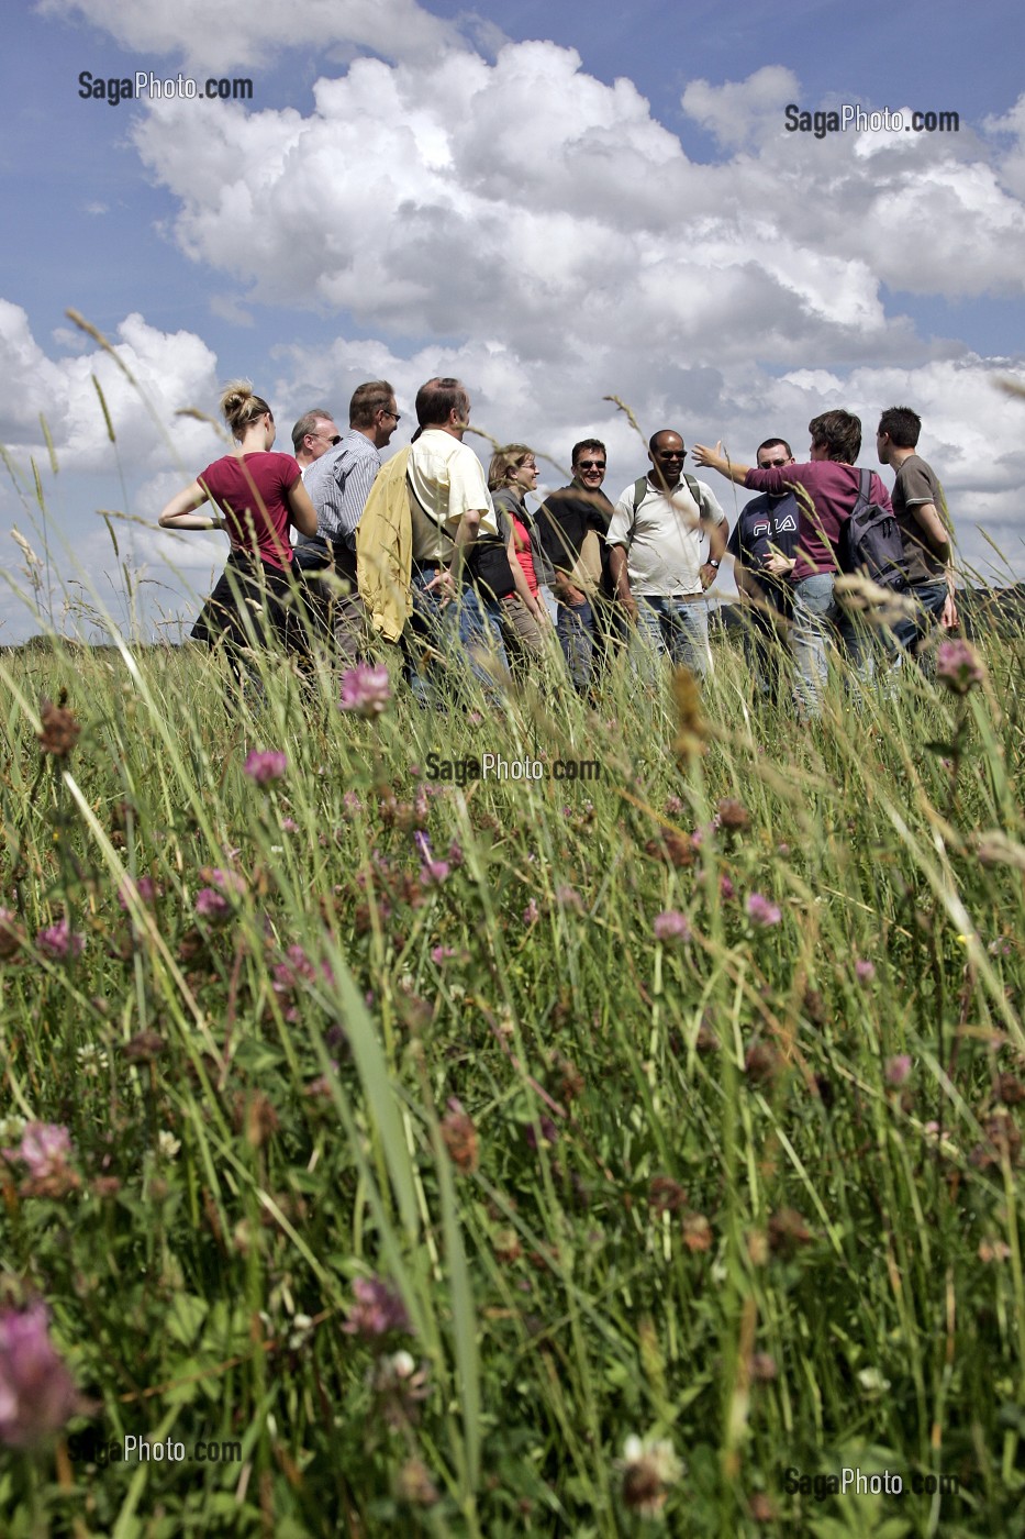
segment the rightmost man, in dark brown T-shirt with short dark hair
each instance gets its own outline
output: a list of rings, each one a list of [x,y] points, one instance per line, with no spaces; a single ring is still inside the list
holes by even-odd
[[[893,626],[893,639],[900,648],[897,666],[903,653],[917,646],[934,625],[945,631],[957,628],[954,553],[943,517],[943,489],[933,466],[916,454],[920,432],[922,419],[910,406],[888,406],[876,429],[879,463],[897,472],[893,512],[903,543],[906,597],[916,605],[914,614]]]

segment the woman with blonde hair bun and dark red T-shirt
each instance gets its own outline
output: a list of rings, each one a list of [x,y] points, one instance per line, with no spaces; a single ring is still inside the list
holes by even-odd
[[[274,454],[274,414],[246,380],[225,388],[220,409],[239,448],[214,460],[160,514],[162,529],[225,529],[231,554],[192,640],[214,646],[268,642],[272,633],[289,651],[305,651],[299,617],[291,611],[292,546],[289,528],[317,532],[317,514],[291,454]],[[205,502],[217,511],[197,512]],[[242,613],[245,609],[245,614]]]

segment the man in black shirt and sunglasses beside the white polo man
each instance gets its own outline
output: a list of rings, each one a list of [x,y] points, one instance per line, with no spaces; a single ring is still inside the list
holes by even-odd
[[[605,445],[582,439],[573,445],[573,480],[554,491],[537,514],[545,554],[554,566],[553,593],[559,606],[556,629],[574,688],[586,693],[594,671],[596,643],[603,639],[608,585],[605,536],[613,505],[602,491]],[[608,589],[606,589],[608,591]]]

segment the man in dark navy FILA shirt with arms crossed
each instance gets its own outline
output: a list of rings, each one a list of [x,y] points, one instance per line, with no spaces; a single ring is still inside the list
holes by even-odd
[[[793,465],[785,439],[766,439],[757,449],[759,469]],[[742,509],[726,549],[734,557],[733,576],[745,611],[745,649],[759,693],[766,700],[780,697],[783,654],[793,609],[791,585],[766,569],[770,556],[797,554],[797,497],[762,492]]]

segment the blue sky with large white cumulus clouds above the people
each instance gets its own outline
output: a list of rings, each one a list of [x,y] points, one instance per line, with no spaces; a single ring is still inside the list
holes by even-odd
[[[37,629],[11,586],[26,571],[57,623],[135,605],[177,636],[225,545],[154,531],[222,452],[175,412],[215,414],[234,376],[271,400],[279,446],[383,376],[397,446],[417,386],[459,374],[477,426],[551,457],[548,485],[602,436],[613,496],[645,460],[609,394],[645,434],[737,459],[770,432],[805,456],[808,419],[846,406],[863,463],[879,409],[911,405],[962,557],[1025,577],[1025,403],[996,383],[1025,383],[1023,32],[1011,0],[18,6],[0,642]],[[137,72],[252,97],[111,100]],[[790,131],[790,105],[902,126]]]

